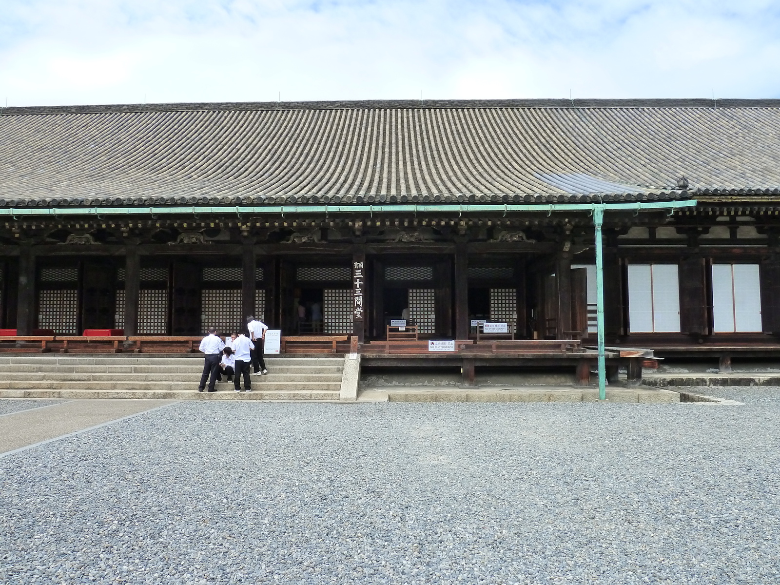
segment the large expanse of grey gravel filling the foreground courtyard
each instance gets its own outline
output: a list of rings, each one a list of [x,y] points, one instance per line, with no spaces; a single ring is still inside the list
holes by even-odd
[[[178,403],[0,459],[0,581],[775,584],[780,388],[724,392]]]

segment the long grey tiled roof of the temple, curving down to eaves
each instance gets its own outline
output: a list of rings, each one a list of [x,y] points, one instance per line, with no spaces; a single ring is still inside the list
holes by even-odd
[[[5,108],[0,206],[773,195],[780,100]]]

